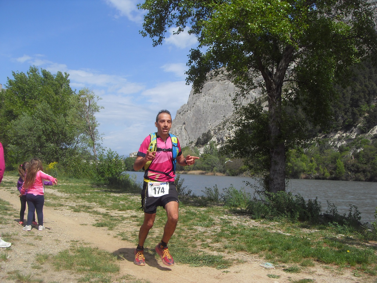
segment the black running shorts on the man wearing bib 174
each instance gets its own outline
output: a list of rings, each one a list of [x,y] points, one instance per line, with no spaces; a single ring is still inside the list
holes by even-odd
[[[169,182],[169,194],[162,195],[161,197],[150,197],[148,194],[148,184],[148,182],[144,181],[143,189],[141,190],[141,208],[145,213],[156,213],[157,206],[162,206],[165,209],[165,205],[170,201],[179,202],[174,182]]]

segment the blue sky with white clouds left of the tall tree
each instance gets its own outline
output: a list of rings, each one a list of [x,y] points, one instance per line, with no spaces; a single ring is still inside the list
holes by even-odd
[[[160,109],[173,118],[187,103],[187,54],[196,38],[166,34],[161,46],[143,38],[142,0],[0,0],[0,83],[30,66],[69,73],[104,109],[96,115],[103,146],[128,156],[155,131]]]

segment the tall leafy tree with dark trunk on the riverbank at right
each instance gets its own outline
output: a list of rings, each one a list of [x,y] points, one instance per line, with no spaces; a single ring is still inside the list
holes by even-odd
[[[149,35],[154,46],[162,44],[171,27],[176,34],[187,31],[197,37],[187,71],[187,83],[196,92],[220,73],[241,89],[241,97],[262,89],[265,127],[253,125],[242,108],[244,125],[236,138],[265,133],[264,140],[248,146],[266,155],[261,168],[268,172],[270,192],[285,191],[286,141],[292,141],[289,147],[303,140],[287,124],[328,125],[337,97],[334,85],[348,81],[349,66],[360,58],[377,54],[375,15],[364,0],[146,0],[139,7],[148,10],[141,34]],[[252,159],[239,150],[244,138],[233,141],[230,150]]]

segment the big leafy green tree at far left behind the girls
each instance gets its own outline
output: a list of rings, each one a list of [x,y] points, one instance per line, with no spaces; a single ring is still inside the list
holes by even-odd
[[[8,169],[31,157],[58,162],[77,148],[79,106],[68,76],[32,66],[8,78],[0,92],[0,139]]]

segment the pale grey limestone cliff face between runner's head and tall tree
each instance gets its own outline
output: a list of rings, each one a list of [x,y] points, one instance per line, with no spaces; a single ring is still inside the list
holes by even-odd
[[[178,109],[170,131],[178,137],[181,147],[196,142],[208,131],[218,144],[230,137],[233,129],[228,129],[229,119],[234,111],[232,100],[237,91],[222,75],[209,80],[198,94],[191,90],[187,103]],[[255,91],[248,101],[259,96],[259,91]]]

